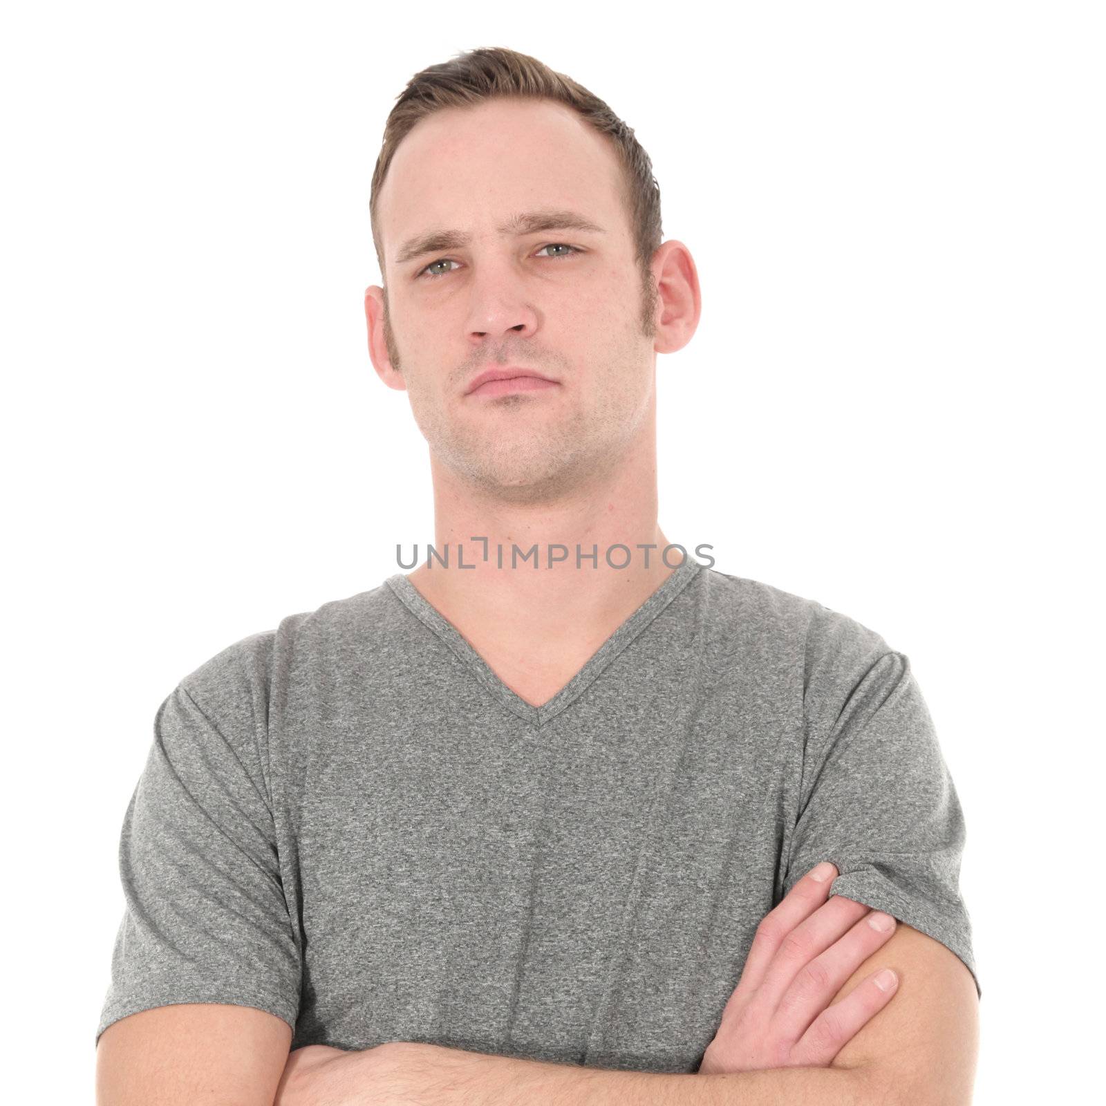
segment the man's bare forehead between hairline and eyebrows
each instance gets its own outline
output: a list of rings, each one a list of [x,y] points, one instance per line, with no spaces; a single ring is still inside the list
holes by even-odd
[[[377,201],[385,262],[428,229],[492,237],[504,217],[540,208],[572,209],[617,234],[622,187],[609,139],[565,104],[444,108],[406,135],[388,167]]]

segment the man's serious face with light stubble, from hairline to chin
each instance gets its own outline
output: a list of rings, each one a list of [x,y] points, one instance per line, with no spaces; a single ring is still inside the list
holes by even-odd
[[[377,215],[392,367],[436,459],[497,498],[552,499],[618,465],[650,431],[656,294],[635,259],[614,150],[571,108],[491,101],[422,119]],[[500,233],[533,211],[599,230]],[[404,259],[430,231],[471,236]],[[556,382],[469,394],[489,366]]]

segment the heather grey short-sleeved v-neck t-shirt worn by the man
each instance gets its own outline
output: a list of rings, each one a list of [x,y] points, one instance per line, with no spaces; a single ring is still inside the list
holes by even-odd
[[[220,1002],[293,1048],[695,1072],[822,860],[981,995],[963,845],[907,657],[845,615],[688,560],[534,707],[397,574],[159,707],[96,1040]]]

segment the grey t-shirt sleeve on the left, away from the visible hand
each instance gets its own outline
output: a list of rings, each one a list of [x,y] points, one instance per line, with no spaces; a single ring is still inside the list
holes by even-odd
[[[236,647],[181,681],[119,839],[125,909],[96,1041],[154,1006],[255,1006],[295,1031],[301,957],[280,876],[257,691]]]

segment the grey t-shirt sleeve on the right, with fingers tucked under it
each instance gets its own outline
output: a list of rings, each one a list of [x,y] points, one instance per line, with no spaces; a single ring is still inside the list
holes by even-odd
[[[963,812],[910,662],[836,616],[808,667],[806,748],[784,894],[822,860],[831,896],[883,910],[940,941],[972,974],[960,894]]]

